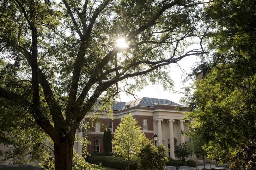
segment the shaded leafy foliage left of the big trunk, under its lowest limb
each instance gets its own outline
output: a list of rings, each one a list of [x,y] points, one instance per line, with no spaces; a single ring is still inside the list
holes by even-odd
[[[11,112],[8,106],[11,106]],[[52,141],[47,140],[47,134],[27,110],[1,98],[0,120],[0,143],[7,147],[7,150],[2,152],[4,156],[0,161],[21,165],[42,161],[53,153]]]

